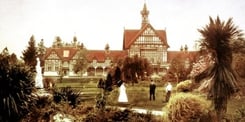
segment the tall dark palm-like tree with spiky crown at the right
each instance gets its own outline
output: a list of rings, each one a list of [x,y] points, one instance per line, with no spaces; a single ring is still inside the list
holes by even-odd
[[[211,53],[214,64],[195,77],[196,81],[204,78],[212,78],[209,84],[209,96],[211,97],[217,114],[218,121],[222,120],[226,113],[227,101],[237,92],[237,79],[231,67],[232,48],[230,42],[242,37],[241,30],[234,26],[232,18],[227,22],[209,18],[210,23],[198,31],[202,35],[201,47]]]

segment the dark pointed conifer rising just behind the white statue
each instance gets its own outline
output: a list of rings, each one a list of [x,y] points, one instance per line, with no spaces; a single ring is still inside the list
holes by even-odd
[[[35,71],[36,59],[37,59],[37,48],[36,41],[32,35],[30,41],[28,42],[28,47],[22,52],[22,59],[25,61],[27,66],[30,66],[33,71]]]

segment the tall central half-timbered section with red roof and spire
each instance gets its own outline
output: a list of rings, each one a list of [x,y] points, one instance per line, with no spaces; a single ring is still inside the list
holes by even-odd
[[[147,58],[150,63],[158,68],[167,66],[167,36],[165,30],[156,30],[149,23],[146,4],[141,11],[142,23],[138,30],[124,30],[123,50],[128,56],[138,55]]]

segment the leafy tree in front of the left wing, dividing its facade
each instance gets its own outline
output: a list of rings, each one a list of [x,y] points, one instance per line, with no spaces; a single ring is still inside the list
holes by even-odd
[[[78,58],[76,60],[73,70],[75,73],[80,72],[82,74],[83,71],[87,69],[88,65],[87,49],[84,47],[83,43],[79,46],[77,53]]]

